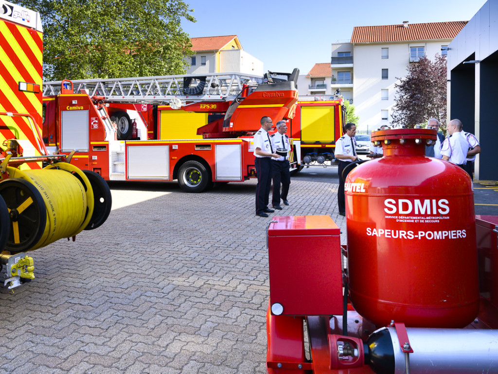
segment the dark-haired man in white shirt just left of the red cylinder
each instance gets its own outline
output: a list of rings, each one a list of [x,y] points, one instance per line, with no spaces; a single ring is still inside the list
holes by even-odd
[[[359,160],[356,155],[356,125],[354,123],[347,123],[344,126],[346,134],[340,137],[336,142],[336,151],[334,156],[339,160],[338,174],[339,174],[339,191],[337,192],[337,200],[339,205],[339,214],[346,215],[346,198],[344,195],[344,180],[343,170],[353,161]]]

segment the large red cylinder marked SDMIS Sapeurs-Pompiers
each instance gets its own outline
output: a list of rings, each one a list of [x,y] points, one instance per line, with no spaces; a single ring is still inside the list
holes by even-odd
[[[376,131],[384,156],[346,179],[349,295],[377,326],[464,327],[479,311],[473,186],[425,157],[435,135]]]

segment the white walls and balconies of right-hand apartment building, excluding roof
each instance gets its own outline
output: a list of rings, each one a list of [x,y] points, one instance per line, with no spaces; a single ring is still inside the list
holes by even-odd
[[[362,132],[391,125],[394,85],[419,57],[433,60],[451,39],[332,44],[332,89],[355,106]],[[443,52],[446,53],[446,52]],[[352,99],[352,100],[351,100]]]

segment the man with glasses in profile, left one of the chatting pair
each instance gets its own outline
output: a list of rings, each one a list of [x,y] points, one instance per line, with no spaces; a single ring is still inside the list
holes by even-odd
[[[271,158],[278,159],[273,152],[268,131],[273,126],[270,117],[261,118],[261,128],[254,134],[254,166],[256,168],[256,215],[267,217],[275,210],[268,208],[271,187]]]

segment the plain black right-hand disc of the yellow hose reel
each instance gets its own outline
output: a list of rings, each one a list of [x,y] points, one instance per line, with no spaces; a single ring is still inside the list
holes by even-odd
[[[82,170],[82,172],[87,176],[94,192],[94,211],[92,218],[90,218],[90,222],[88,222],[87,227],[85,227],[85,230],[93,230],[102,225],[107,217],[109,217],[113,205],[113,198],[111,189],[104,178],[90,170]]]

